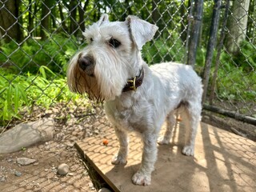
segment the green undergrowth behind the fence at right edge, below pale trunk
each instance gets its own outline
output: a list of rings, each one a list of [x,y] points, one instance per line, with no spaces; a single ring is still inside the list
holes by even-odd
[[[242,49],[237,55],[222,52],[216,87],[218,98],[233,102],[241,100],[255,102],[256,56],[253,53],[254,47],[248,42],[243,42]],[[214,60],[215,55],[216,53]],[[214,66],[211,71],[213,74]]]

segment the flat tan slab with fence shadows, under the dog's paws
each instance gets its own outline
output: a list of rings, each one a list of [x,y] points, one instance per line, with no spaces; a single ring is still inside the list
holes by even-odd
[[[255,191],[255,142],[201,123],[198,127],[194,157],[182,155],[185,127],[177,124],[173,142],[158,146],[158,161],[150,186],[134,186],[132,175],[138,170],[142,144],[130,135],[130,154],[126,166],[111,165],[118,150],[114,130],[104,127],[105,134],[76,143],[78,151],[114,191]],[[163,127],[164,129],[164,127]],[[104,146],[102,141],[109,141]]]

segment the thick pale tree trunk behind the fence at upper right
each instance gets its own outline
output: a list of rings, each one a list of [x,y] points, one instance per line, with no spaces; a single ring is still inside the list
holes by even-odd
[[[227,22],[226,50],[230,54],[237,54],[239,46],[246,39],[248,10],[250,0],[234,0],[230,17]]]

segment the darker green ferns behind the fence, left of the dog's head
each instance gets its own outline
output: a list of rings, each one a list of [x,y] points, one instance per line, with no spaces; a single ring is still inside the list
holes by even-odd
[[[40,66],[47,66],[54,73],[63,74],[63,66],[78,50],[76,39],[66,37],[64,34],[54,34],[46,41],[28,39],[22,45],[9,42],[0,47],[2,50],[0,62],[9,63],[16,73],[37,73]],[[65,67],[64,67],[65,69]]]

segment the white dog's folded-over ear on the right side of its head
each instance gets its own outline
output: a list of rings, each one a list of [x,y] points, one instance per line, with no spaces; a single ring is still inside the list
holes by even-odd
[[[130,28],[130,33],[138,50],[142,50],[142,46],[149,42],[158,30],[158,26],[152,25],[133,15],[129,15],[126,18],[126,23]]]

